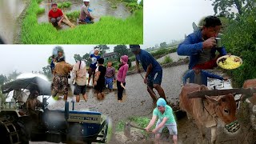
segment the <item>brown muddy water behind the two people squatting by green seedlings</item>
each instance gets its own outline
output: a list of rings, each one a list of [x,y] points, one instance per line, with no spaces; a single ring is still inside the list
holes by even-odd
[[[62,1],[58,1],[62,2]],[[64,1],[65,2],[65,1]],[[72,11],[80,10],[83,5],[82,1],[69,1],[72,2],[70,8],[62,9],[63,12],[69,13]],[[117,6],[116,9],[111,6]],[[40,7],[45,8],[45,13],[38,16],[38,22],[48,22],[48,12],[50,11],[50,1],[45,0],[40,3]],[[94,16],[94,22],[98,22],[102,16],[114,16],[116,18],[127,18],[130,16],[130,11],[123,3],[108,1],[108,0],[94,0],[90,2],[90,13]],[[76,22],[74,22],[76,24]]]

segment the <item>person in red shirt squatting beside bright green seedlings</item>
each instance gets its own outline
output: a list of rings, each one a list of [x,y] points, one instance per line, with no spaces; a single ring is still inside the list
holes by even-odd
[[[51,10],[48,14],[48,20],[51,22],[54,26],[62,26],[62,20],[64,19],[62,10],[58,9],[57,3],[53,2],[51,4]]]

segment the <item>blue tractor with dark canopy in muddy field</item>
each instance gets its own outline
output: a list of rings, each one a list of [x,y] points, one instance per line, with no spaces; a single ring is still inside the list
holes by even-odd
[[[2,86],[2,93],[12,90],[38,89],[42,96],[42,106],[33,114],[26,113],[26,105],[17,101],[0,102],[1,143],[63,142],[63,143],[106,143],[109,119],[97,111],[70,110],[70,102],[65,102],[65,110],[49,110],[50,82],[42,78],[22,78]],[[18,105],[19,104],[19,105]],[[18,106],[17,106],[18,105]]]

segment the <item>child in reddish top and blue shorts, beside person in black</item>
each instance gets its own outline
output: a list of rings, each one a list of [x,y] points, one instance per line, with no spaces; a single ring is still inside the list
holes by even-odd
[[[114,67],[112,67],[112,62],[107,62],[105,86],[107,85],[107,88],[110,90],[110,92],[113,90],[113,82],[115,80],[115,70]]]

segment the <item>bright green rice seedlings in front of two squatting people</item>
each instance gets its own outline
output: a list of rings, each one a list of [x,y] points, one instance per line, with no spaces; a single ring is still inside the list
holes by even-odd
[[[143,10],[122,18],[102,17],[92,25],[56,30],[50,23],[38,24],[38,0],[31,0],[22,21],[22,44],[141,44],[143,43]]]

